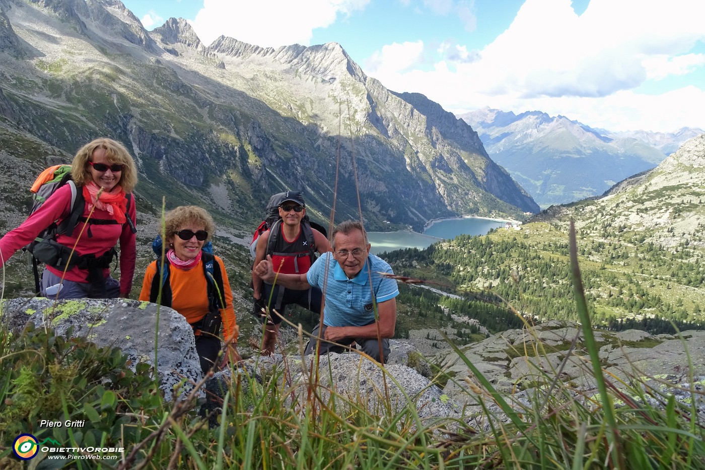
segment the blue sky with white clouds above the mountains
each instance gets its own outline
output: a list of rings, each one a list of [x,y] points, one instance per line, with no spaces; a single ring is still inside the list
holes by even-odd
[[[338,42],[368,76],[456,114],[561,114],[611,131],[705,129],[704,0],[127,0],[278,47]]]

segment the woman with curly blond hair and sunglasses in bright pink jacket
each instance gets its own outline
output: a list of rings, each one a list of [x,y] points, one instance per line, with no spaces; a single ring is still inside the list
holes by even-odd
[[[53,169],[45,170],[42,175]],[[135,160],[121,143],[98,138],[81,147],[73,157],[71,179],[72,182],[56,189],[20,227],[0,239],[0,266],[56,224],[52,239],[55,243],[42,243],[42,251],[35,246],[35,258],[47,263],[40,294],[52,299],[127,297],[135,273],[137,211],[131,194],[137,183]],[[72,200],[83,206],[74,210]],[[62,222],[72,215],[73,230],[62,229],[66,226]],[[109,270],[118,242],[119,282],[110,277]]]

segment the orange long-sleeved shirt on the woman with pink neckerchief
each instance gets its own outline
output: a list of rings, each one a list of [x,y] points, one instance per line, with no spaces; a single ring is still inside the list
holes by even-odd
[[[235,320],[235,310],[233,309],[233,291],[230,289],[228,275],[223,265],[223,260],[218,256],[214,257],[220,265],[223,275],[223,297],[226,308],[221,308],[221,318],[223,318],[223,338],[233,337],[233,343],[238,342],[239,327]],[[149,293],[152,289],[152,279],[157,274],[157,261],[147,266],[145,279],[142,281],[141,301],[149,301]],[[203,275],[203,261],[188,271],[180,270],[178,267],[169,267],[169,284],[171,285],[171,308],[186,318],[188,323],[196,323],[208,313],[208,284]],[[234,336],[233,336],[234,335]]]

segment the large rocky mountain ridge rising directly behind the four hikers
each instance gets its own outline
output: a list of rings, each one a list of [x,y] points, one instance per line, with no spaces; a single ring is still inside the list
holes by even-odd
[[[360,217],[359,191],[373,230],[539,212],[465,121],[387,90],[340,44],[205,47],[185,20],[148,32],[118,0],[0,0],[0,46],[2,221],[22,219],[18,187],[103,135],[137,158],[146,219],[166,196],[251,233],[285,189],[317,219],[335,200],[336,222]]]

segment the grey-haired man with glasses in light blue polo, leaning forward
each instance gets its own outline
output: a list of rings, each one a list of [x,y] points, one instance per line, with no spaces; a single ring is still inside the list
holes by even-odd
[[[367,234],[360,222],[348,220],[333,229],[332,247],[333,252],[322,254],[307,273],[276,276],[276,283],[288,289],[318,287],[324,291],[323,325],[314,328],[305,354],[312,354],[321,330],[325,340],[321,342],[321,354],[343,352],[356,343],[365,354],[382,361],[389,355],[389,338],[394,336],[399,289],[395,280],[379,272],[393,274],[392,269],[369,253]],[[275,282],[269,256],[255,270],[265,281]]]

